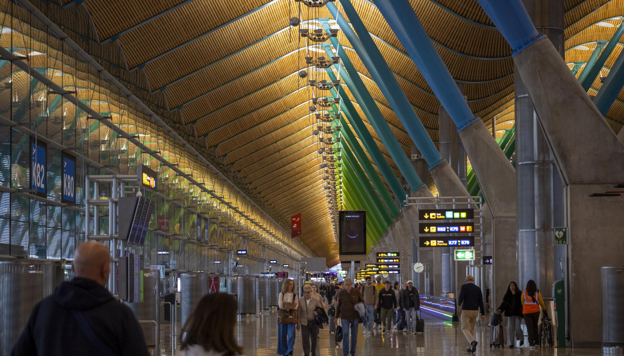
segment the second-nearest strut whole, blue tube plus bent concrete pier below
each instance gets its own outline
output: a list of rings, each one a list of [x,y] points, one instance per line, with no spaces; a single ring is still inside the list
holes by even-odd
[[[483,121],[475,117],[470,110],[411,4],[406,0],[379,0],[376,1],[376,5],[457,125],[464,148],[487,200],[487,206],[494,218],[493,254],[499,262],[493,271],[492,283],[495,288],[492,298],[496,299],[505,293],[505,289],[502,288],[503,281],[515,279],[517,271],[514,248],[515,169]],[[351,15],[348,15],[351,19]]]

